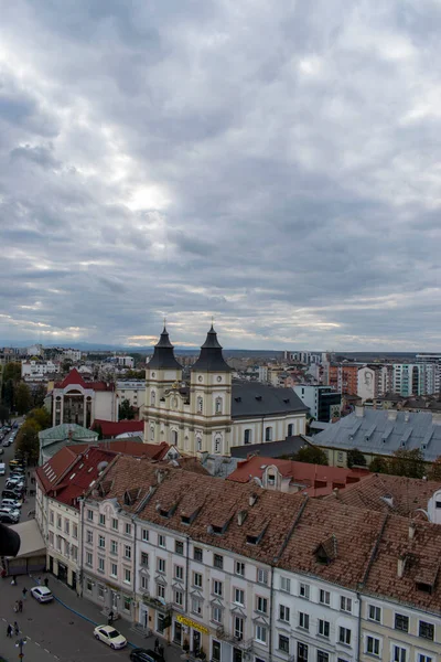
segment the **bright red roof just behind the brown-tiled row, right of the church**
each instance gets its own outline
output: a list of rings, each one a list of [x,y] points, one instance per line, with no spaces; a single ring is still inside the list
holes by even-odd
[[[283,478],[289,478],[291,483],[302,485],[302,492],[310,496],[324,496],[331,494],[335,487],[344,488],[348,483],[358,482],[366,476],[367,470],[344,469],[341,467],[325,467],[292,460],[278,460],[254,456],[237,465],[227,480],[246,483],[252,478],[261,479],[265,469],[275,466]]]

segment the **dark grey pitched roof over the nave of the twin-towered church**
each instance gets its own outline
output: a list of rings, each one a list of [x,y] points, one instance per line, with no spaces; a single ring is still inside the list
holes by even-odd
[[[309,412],[292,388],[245,382],[232,386],[232,418]]]

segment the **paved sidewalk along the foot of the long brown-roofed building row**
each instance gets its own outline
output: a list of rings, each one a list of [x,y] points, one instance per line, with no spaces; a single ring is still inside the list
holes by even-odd
[[[64,608],[69,609],[80,618],[89,621],[93,627],[104,623],[107,624],[107,618],[101,613],[101,610],[98,606],[94,605],[86,598],[79,598],[75,591],[73,591],[50,573],[42,574],[41,577],[43,581],[44,577],[47,577],[49,588],[54,594],[55,599]],[[36,575],[33,576],[33,579],[36,579]],[[115,622],[115,628],[126,637],[128,644],[132,648],[146,648],[153,650],[154,640],[158,638],[160,643],[162,643],[164,647],[165,661],[182,662],[182,655],[184,651],[181,649],[181,647],[178,647],[174,643],[169,644],[166,639],[160,637],[159,634],[153,633],[150,637],[146,637],[138,632],[130,621],[125,620],[123,618],[119,618]]]

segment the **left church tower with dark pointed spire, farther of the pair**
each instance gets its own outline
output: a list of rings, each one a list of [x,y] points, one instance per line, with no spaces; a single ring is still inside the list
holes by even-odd
[[[160,444],[160,406],[165,391],[182,382],[182,365],[174,356],[173,345],[164,329],[154,345],[153,356],[146,367],[144,442]]]

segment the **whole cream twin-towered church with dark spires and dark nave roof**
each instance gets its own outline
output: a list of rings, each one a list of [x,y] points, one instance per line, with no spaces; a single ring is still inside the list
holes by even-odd
[[[233,446],[305,433],[308,408],[289,388],[232,381],[213,327],[183,382],[166,329],[146,371],[144,441],[180,451],[229,455]]]

